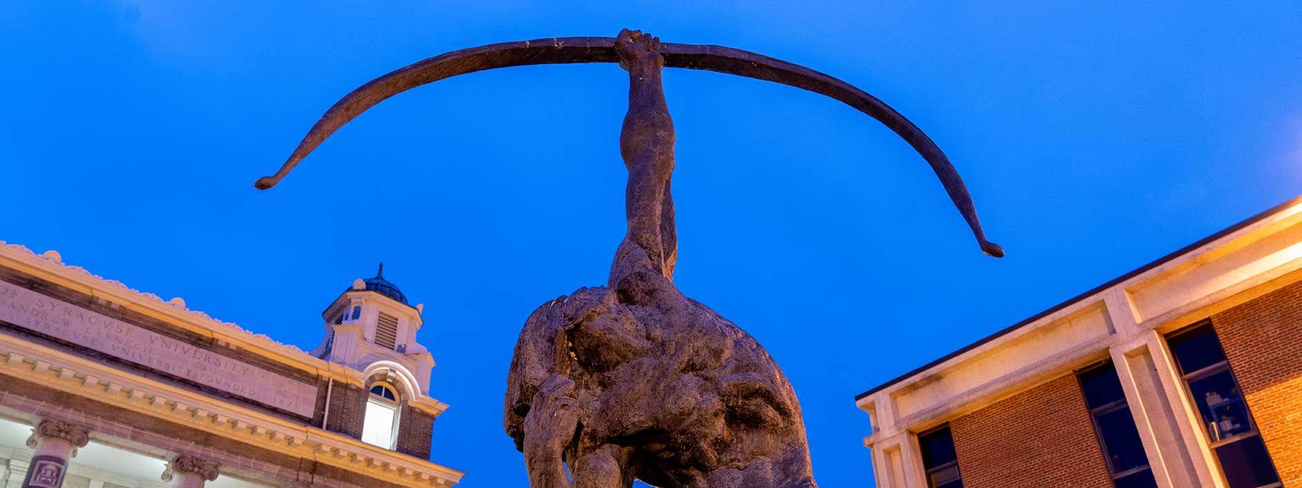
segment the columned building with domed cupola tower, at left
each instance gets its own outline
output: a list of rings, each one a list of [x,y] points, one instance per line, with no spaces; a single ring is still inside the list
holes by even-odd
[[[302,351],[0,242],[0,488],[454,485],[422,308],[381,267]]]

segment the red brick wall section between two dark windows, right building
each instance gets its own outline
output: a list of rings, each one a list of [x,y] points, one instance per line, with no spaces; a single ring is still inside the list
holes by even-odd
[[[1075,375],[963,415],[949,429],[966,488],[1112,488]]]

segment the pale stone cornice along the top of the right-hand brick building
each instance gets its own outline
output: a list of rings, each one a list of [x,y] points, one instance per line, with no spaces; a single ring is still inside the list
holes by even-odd
[[[927,429],[1098,360],[1160,350],[1152,344],[1164,334],[1299,281],[1302,197],[859,394],[874,428],[865,442]]]

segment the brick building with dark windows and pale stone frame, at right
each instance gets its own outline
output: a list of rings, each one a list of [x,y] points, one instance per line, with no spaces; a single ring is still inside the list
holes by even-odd
[[[1302,488],[1302,198],[855,401],[883,488]]]

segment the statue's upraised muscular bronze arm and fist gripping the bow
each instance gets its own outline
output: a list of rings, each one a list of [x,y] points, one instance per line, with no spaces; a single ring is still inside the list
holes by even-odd
[[[644,265],[672,280],[677,259],[673,198],[669,195],[673,120],[661,87],[664,57],[659,48],[659,39],[639,31],[624,30],[616,40],[620,65],[629,72],[629,112],[620,134],[620,154],[629,169],[625,191],[629,229],[611,271],[612,285]],[[629,245],[639,250],[628,249]],[[642,263],[643,254],[646,263]]]

